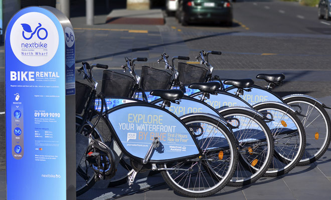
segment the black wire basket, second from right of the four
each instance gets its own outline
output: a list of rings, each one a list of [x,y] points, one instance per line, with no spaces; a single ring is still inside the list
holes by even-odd
[[[168,71],[142,66],[140,87],[144,90],[167,89],[172,75]]]

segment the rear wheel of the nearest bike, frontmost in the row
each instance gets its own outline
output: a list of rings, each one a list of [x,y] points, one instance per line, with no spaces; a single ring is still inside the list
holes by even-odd
[[[200,143],[200,146],[203,146],[202,158],[199,160],[183,160],[176,163],[161,164],[160,166],[164,168],[177,168],[177,170],[161,171],[161,175],[165,182],[178,193],[190,197],[209,196],[221,190],[235,171],[238,161],[235,138],[224,124],[214,118],[197,114],[183,119],[183,122],[192,131],[199,131],[200,127],[204,125],[205,131],[202,132],[203,134],[196,136],[197,142]],[[207,132],[208,128],[210,128],[210,131]],[[205,132],[207,132],[206,135],[204,134]],[[211,141],[217,142],[209,145]],[[205,145],[206,142],[207,145]],[[216,146],[216,144],[218,145]],[[221,146],[224,151],[220,150]],[[220,157],[221,151],[222,158]],[[183,169],[184,167],[187,169],[183,170],[184,172],[178,170],[178,168]],[[206,170],[202,170],[202,168]],[[221,177],[219,177],[220,175]],[[184,177],[186,177],[185,179],[189,178],[191,181],[183,180]],[[216,179],[218,181],[215,181]]]

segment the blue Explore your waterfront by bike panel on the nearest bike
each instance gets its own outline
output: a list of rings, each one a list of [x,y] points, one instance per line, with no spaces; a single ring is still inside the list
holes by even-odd
[[[151,160],[199,153],[188,129],[170,113],[148,106],[128,106],[109,113],[109,119],[124,148],[144,158],[154,137],[160,141]]]

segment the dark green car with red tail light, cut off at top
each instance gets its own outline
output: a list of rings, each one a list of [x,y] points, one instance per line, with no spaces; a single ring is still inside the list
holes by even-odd
[[[176,17],[183,25],[192,22],[232,25],[232,12],[229,0],[180,0]]]

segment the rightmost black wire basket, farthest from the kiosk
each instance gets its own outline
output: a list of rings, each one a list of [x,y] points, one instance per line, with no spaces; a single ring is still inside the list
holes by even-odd
[[[184,84],[205,82],[207,71],[208,70],[202,66],[178,62],[178,80],[183,82]]]

